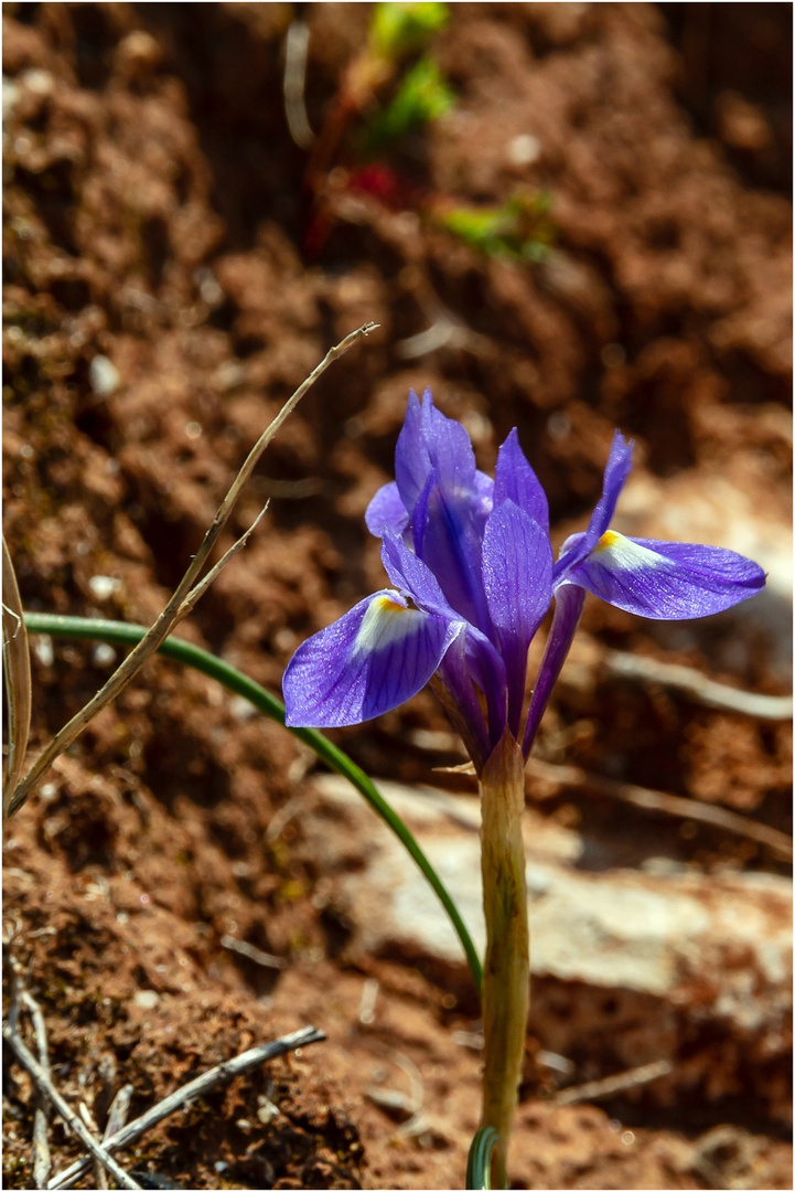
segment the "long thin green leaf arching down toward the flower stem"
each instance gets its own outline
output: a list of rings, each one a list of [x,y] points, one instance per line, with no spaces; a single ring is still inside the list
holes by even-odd
[[[80,616],[56,616],[49,613],[25,613],[25,625],[29,633],[49,633],[54,638],[84,638],[94,641],[107,641],[112,645],[127,646],[133,646],[137,641],[140,641],[146,633],[146,629],[142,625],[127,625],[124,621],[102,621]],[[242,695],[249,700],[255,708],[264,712],[271,720],[275,720],[280,725],[284,724],[284,704],[280,700],[265,691],[264,687],[259,687],[253,679],[240,673],[234,666],[230,666],[229,663],[223,662],[206,650],[201,650],[200,646],[194,646],[189,641],[182,641],[180,638],[167,638],[159,647],[158,653],[193,666],[194,670],[218,679],[227,690],[234,691],[237,695]],[[475,945],[442,879],[400,815],[393,811],[383,795],[378,794],[367,774],[346,753],[343,753],[340,749],[332,745],[323,733],[317,732],[314,728],[288,728],[288,732],[298,737],[299,740],[305,741],[331,770],[342,774],[356,787],[417,862],[447,912],[450,921],[464,949],[472,980],[480,994],[482,968]]]

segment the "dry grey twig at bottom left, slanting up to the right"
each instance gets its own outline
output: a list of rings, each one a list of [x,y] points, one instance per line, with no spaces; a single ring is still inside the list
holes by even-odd
[[[314,1026],[305,1026],[302,1030],[294,1031],[293,1035],[284,1035],[273,1043],[263,1043],[261,1047],[249,1048],[248,1051],[234,1056],[233,1060],[226,1060],[224,1063],[217,1064],[208,1072],[202,1073],[201,1076],[188,1081],[182,1088],[177,1088],[176,1092],[170,1093],[162,1101],[158,1101],[157,1105],[152,1105],[151,1109],[142,1113],[134,1122],[123,1126],[117,1134],[107,1138],[105,1147],[108,1151],[129,1147],[142,1134],[151,1130],[154,1125],[157,1125],[158,1122],[169,1117],[175,1110],[179,1110],[195,1097],[206,1095],[211,1089],[217,1088],[218,1085],[229,1084],[234,1076],[239,1076],[240,1073],[248,1072],[250,1068],[257,1068],[269,1060],[275,1060],[280,1055],[287,1055],[288,1051],[295,1051],[298,1048],[308,1047],[311,1043],[323,1043],[325,1038],[326,1036],[323,1031],[315,1030]],[[48,1184],[48,1188],[71,1187],[88,1171],[90,1165],[90,1159],[79,1159],[70,1167],[67,1167],[65,1171],[55,1175]]]

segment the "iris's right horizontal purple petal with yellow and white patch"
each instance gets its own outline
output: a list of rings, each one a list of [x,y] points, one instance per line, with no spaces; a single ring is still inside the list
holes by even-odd
[[[718,546],[601,535],[569,572],[574,584],[638,616],[687,621],[720,613],[764,588],[762,567]]]

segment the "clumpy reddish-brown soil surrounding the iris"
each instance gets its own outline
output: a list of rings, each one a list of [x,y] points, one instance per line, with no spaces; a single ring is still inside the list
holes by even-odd
[[[319,130],[370,6],[301,7]],[[785,527],[789,7],[452,6],[432,48],[455,107],[396,147],[386,164],[402,190],[388,195],[355,185],[356,129],[307,185],[284,117],[292,15],[4,6],[5,532],[25,606],[151,622],[262,428],[369,319],[380,330],[269,448],[223,545],[270,498],[265,519],[180,631],[275,693],[295,646],[382,585],[362,515],[389,478],[411,386],[464,421],[487,470],[519,428],[556,540],[593,507],[615,426],[637,437],[649,484],[733,485],[762,538]],[[551,204],[553,244],[534,265],[483,255],[428,216],[434,195],[499,204],[518,188]],[[417,339],[430,329],[433,342]],[[751,617],[721,625],[683,637],[594,607],[584,628],[597,648],[782,691],[784,647]],[[38,639],[33,749],[109,666],[107,651]],[[440,764],[420,734],[444,731],[422,693],[336,739],[374,777],[412,783]],[[790,830],[784,725],[564,684],[540,749]],[[295,848],[311,768],[277,725],[162,659],[56,763],[5,852],[6,936],[55,1079],[101,1128],[124,1084],[134,1116],[312,1024],[327,1042],[194,1103],[127,1168],[183,1187],[461,1187],[474,997],[411,957],[346,958],[350,925],[324,913]],[[783,871],[763,845],[582,791],[539,808],[583,832],[658,833],[657,852],[707,873]],[[770,1118],[741,1089],[697,1111],[558,1105],[532,1062],[542,1044],[531,1024],[515,1186],[791,1186],[785,1087]],[[5,1184],[30,1187],[35,1095],[18,1067],[5,1094]],[[51,1137],[58,1167],[77,1154],[62,1126]]]

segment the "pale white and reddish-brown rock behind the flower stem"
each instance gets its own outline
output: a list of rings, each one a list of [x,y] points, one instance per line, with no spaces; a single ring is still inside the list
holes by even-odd
[[[353,949],[402,952],[467,981],[461,943],[402,845],[345,780],[314,780],[301,817],[321,888],[353,924]],[[378,788],[415,833],[483,952],[478,801],[396,783]],[[791,883],[766,874],[571,868],[580,837],[525,818],[533,976],[532,1031],[558,1055],[614,1072],[668,1058],[677,1080],[731,1092],[791,1047]],[[418,960],[420,957],[420,960]],[[687,1045],[688,1061],[680,1062]],[[770,1093],[775,1095],[775,1093]]]

